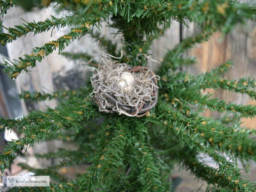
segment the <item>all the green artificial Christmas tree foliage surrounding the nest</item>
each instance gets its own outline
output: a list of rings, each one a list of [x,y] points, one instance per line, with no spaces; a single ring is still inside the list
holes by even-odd
[[[40,65],[55,50],[67,58],[88,62],[93,56],[86,52],[63,52],[72,41],[86,34],[99,41],[99,47],[108,54],[117,57],[122,50],[123,57],[113,58],[115,61],[146,66],[145,55],[152,42],[172,27],[172,20],[183,25],[186,20],[195,22],[201,33],[183,39],[166,52],[156,71],[161,78],[159,100],[156,107],[141,118],[100,112],[90,97],[90,83],[77,90],[58,90],[52,94],[21,93],[20,99],[34,102],[58,99],[60,102],[54,109],[32,111],[18,119],[0,118],[0,131],[15,129],[22,135],[19,140],[8,142],[0,154],[1,172],[9,168],[18,155],[24,155],[23,149],[28,146],[58,138],[76,143],[76,150],[60,148],[56,152],[36,154],[38,158],[61,159],[46,169],[20,164],[37,175],[50,175],[55,180],[50,187],[33,187],[33,191],[168,192],[173,189],[170,175],[175,163],[205,180],[208,191],[256,191],[256,184],[241,177],[237,163],[233,163],[256,161],[256,133],[253,129],[241,128],[240,122],[241,117],[254,117],[256,107],[202,94],[206,88],[223,89],[247,94],[256,100],[256,80],[224,79],[222,75],[233,67],[231,61],[200,75],[178,71],[183,65],[196,62],[195,58],[183,57],[194,44],[207,41],[213,32],[227,34],[236,24],[255,20],[255,4],[238,0],[0,0],[0,15],[8,14],[12,7],[21,6],[29,11],[51,3],[56,11],[65,10],[67,15],[51,16],[40,22],[24,20],[22,25],[6,28],[6,33],[0,34],[0,43],[6,45],[30,32],[36,35],[64,27],[70,29],[66,35],[35,47],[17,60],[5,59],[4,71],[12,79]],[[109,18],[111,23],[108,23]],[[103,22],[122,34],[121,49],[92,30],[100,29]],[[163,29],[159,28],[161,25]],[[200,116],[198,107],[218,111],[223,116],[220,119]],[[207,166],[199,154],[207,154],[218,168]],[[234,161],[228,161],[226,156]],[[90,164],[90,167],[75,180],[67,180],[58,173],[61,167],[82,164]],[[32,189],[23,187],[9,191],[30,192]]]

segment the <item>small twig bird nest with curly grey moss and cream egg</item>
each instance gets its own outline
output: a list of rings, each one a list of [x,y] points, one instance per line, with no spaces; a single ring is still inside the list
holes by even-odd
[[[91,96],[99,111],[127,116],[144,116],[157,104],[157,80],[160,79],[147,67],[132,67],[125,63],[102,59],[91,77]]]

